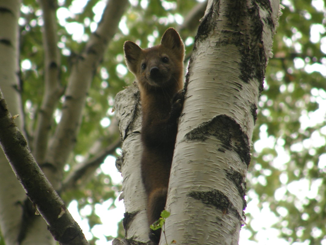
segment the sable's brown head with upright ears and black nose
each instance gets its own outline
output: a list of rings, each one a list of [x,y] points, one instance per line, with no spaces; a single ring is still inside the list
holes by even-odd
[[[126,41],[124,52],[128,69],[141,87],[151,89],[176,85],[178,89],[182,88],[185,48],[175,29],[167,29],[161,44],[147,49]]]

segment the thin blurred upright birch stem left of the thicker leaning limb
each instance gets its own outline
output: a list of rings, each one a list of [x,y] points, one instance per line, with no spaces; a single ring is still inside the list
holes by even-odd
[[[53,112],[64,90],[60,86],[60,53],[57,46],[56,2],[39,0],[43,11],[43,46],[44,46],[44,94],[42,105],[37,115],[37,126],[33,141],[33,155],[38,163],[44,160],[48,146],[49,133],[53,123]]]

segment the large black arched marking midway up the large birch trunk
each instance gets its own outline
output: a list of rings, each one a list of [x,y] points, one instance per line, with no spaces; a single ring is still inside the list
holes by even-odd
[[[205,141],[210,136],[222,142],[222,147],[235,151],[248,166],[250,163],[250,146],[248,136],[240,125],[227,115],[218,115],[212,120],[201,123],[185,135],[185,141]],[[218,148],[221,151],[221,147]]]

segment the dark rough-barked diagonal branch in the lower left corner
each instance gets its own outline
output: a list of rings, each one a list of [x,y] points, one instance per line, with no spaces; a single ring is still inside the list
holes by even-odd
[[[88,245],[78,223],[52,188],[15,124],[0,91],[0,143],[11,168],[29,199],[47,222],[55,240],[62,245]]]

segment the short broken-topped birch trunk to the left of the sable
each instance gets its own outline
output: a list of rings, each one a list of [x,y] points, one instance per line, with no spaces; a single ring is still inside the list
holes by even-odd
[[[116,165],[123,176],[120,199],[124,199],[126,210],[123,221],[125,239],[129,239],[128,242],[126,240],[123,242],[148,243],[146,193],[140,167],[142,152],[140,92],[135,83],[115,96],[114,108],[122,140],[122,155],[117,159]]]

